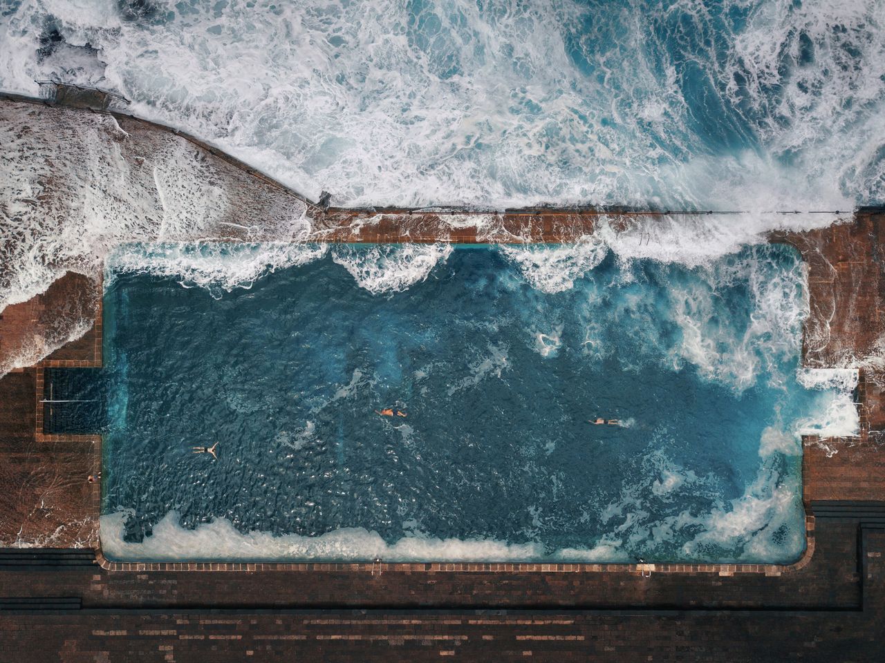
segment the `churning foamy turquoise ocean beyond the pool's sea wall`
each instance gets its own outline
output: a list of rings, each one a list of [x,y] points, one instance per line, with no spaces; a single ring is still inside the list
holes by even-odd
[[[881,3],[629,7],[22,0],[0,87],[117,89],[344,204],[881,199]]]

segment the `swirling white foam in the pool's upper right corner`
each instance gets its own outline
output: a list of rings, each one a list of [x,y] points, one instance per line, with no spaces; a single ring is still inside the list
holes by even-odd
[[[689,278],[673,272],[660,292],[629,287],[636,278],[645,278],[634,267],[633,259],[624,261],[612,284],[581,284],[588,298],[581,317],[586,354],[602,357],[609,351],[606,324],[598,319],[598,303],[604,300],[606,316],[630,321],[645,354],[662,357],[676,370],[692,364],[707,379],[738,391],[755,385],[765,371],[776,384],[793,379],[781,375],[779,366],[799,353],[808,315],[801,260],[783,261],[778,249],[753,248],[698,266]],[[658,273],[666,276],[664,268]],[[749,316],[727,308],[723,297],[732,286],[748,291]],[[675,339],[661,332],[670,323],[681,332]]]

